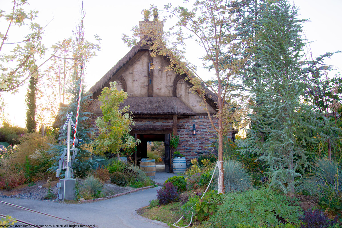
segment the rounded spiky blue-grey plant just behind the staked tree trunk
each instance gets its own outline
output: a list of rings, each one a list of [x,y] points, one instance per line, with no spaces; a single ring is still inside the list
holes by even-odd
[[[245,169],[245,166],[235,159],[223,161],[224,169],[224,190],[229,191],[246,191],[252,188],[251,174]],[[213,172],[213,170],[212,170]],[[218,190],[219,173],[216,168],[213,183],[214,189]]]

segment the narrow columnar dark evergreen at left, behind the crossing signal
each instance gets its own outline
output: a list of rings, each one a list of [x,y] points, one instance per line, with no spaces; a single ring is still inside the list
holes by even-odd
[[[31,76],[27,89],[25,103],[27,105],[26,112],[26,131],[27,133],[36,132],[36,92],[38,79],[36,76]]]

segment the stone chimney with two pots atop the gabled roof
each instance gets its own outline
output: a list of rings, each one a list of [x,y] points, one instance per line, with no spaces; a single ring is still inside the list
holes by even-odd
[[[158,20],[158,12],[153,13],[153,21],[149,21],[148,15],[145,14],[145,20],[139,21],[140,39],[151,33],[163,33],[164,22]]]

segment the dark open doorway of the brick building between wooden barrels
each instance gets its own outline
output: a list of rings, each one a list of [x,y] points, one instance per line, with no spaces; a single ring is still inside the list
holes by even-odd
[[[170,134],[136,134],[136,138],[141,140],[141,144],[138,144],[136,151],[136,161],[137,164],[140,164],[141,159],[149,158],[151,153],[148,153],[148,148],[151,147],[151,142],[162,142],[158,143],[164,146],[163,155],[161,158],[161,162],[164,164],[164,172],[172,173],[172,161],[170,156]],[[161,149],[161,148],[159,148]],[[152,157],[152,159],[155,159]],[[160,163],[160,160],[158,161]],[[156,164],[158,164],[156,162]]]

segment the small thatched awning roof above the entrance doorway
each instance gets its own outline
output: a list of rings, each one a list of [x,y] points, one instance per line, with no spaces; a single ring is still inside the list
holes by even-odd
[[[134,115],[196,116],[196,112],[177,97],[127,97],[122,106],[127,105]]]

